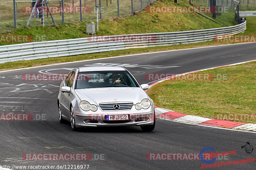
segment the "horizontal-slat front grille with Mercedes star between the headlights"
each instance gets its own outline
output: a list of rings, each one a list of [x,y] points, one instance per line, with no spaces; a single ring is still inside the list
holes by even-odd
[[[115,109],[114,106],[118,105],[119,109]],[[103,111],[119,111],[119,110],[131,110],[133,103],[100,103],[100,108]]]

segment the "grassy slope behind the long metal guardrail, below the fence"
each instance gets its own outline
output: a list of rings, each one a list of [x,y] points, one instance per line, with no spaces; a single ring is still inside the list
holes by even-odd
[[[116,1],[113,1],[113,3]],[[130,1],[129,1],[130,2]],[[126,4],[128,5],[128,4]],[[171,1],[164,0],[164,2],[156,1],[152,4],[154,6],[188,6],[188,0],[180,0],[179,4],[172,3]],[[125,8],[126,9],[126,8]],[[2,11],[2,9],[1,9]],[[102,14],[102,16],[107,14]],[[67,15],[68,16],[68,15]],[[56,14],[56,17],[60,15]],[[1,19],[3,16],[1,17]],[[76,18],[80,18],[76,15]],[[234,17],[230,17],[234,20]],[[28,18],[27,18],[28,19]],[[49,18],[50,19],[50,18]],[[57,18],[56,18],[57,20]],[[72,38],[88,37],[86,35],[86,23],[91,23],[95,18],[86,18],[86,22],[76,23],[75,19],[72,24],[58,25],[58,26],[36,26],[36,27],[21,27],[12,32],[5,33],[9,35],[31,35],[34,37],[34,41],[40,41],[43,37],[46,41],[51,40],[63,40]],[[33,20],[34,21],[34,20]],[[1,20],[1,25],[8,24]],[[72,22],[72,19],[71,19]],[[223,22],[224,23],[224,22]],[[24,24],[21,24],[24,25]],[[225,25],[234,25],[234,22],[227,20]],[[12,24],[9,24],[12,26]],[[158,32],[175,32],[175,31],[189,31],[222,27],[221,25],[212,22],[211,20],[196,14],[196,13],[148,13],[146,10],[139,12],[136,15],[104,19],[99,22],[99,31],[96,35],[118,35],[118,34],[130,34],[130,33],[158,33]],[[1,29],[2,30],[2,29]],[[7,30],[7,29],[6,29]],[[0,45],[13,44],[10,42],[0,42]]]

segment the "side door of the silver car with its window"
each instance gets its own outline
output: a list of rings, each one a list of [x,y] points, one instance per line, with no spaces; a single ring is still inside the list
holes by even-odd
[[[68,86],[71,88],[70,91],[72,91],[72,85],[74,83],[74,78],[75,78],[75,71],[72,71],[68,77],[65,79],[65,81],[63,82],[65,86]],[[70,117],[70,113],[69,113],[69,107],[70,107],[70,103],[71,100],[74,98],[74,96],[71,93],[67,93],[67,92],[61,92],[61,96],[60,96],[60,102],[62,103],[64,110],[63,110],[63,114],[66,115],[67,117]]]

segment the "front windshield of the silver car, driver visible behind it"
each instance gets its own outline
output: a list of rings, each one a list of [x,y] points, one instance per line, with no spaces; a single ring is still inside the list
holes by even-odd
[[[140,87],[127,71],[87,71],[77,75],[76,89]]]

